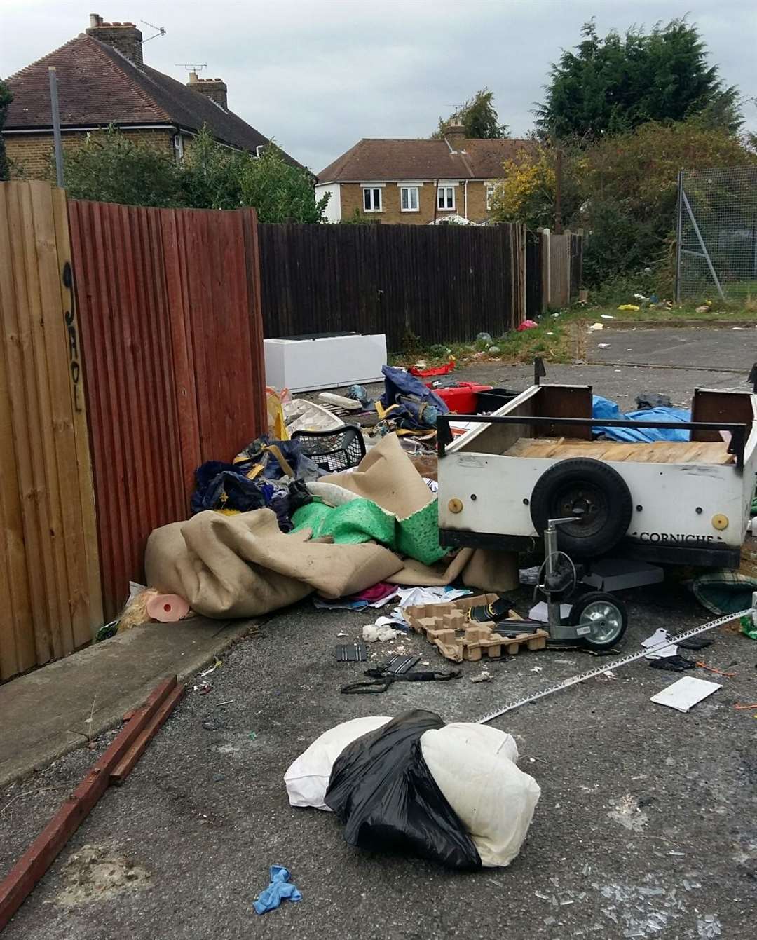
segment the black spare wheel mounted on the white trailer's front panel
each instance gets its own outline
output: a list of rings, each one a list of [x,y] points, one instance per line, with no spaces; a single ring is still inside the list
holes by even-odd
[[[578,516],[560,525],[558,544],[576,558],[605,555],[623,539],[631,524],[631,493],[607,463],[586,457],[553,464],[531,493],[531,521],[544,532],[550,519]]]

